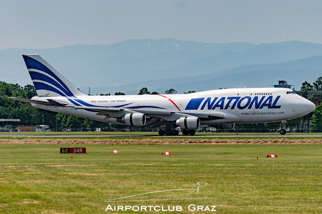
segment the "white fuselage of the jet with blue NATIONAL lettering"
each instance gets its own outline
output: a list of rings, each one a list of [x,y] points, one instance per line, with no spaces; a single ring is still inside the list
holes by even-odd
[[[121,95],[121,96],[77,96],[77,97],[33,97],[47,101],[52,99],[68,106],[116,107],[172,111],[172,115],[157,115],[167,121],[174,121],[186,112],[224,114],[222,119],[201,120],[201,125],[228,123],[266,123],[289,120],[311,112],[315,105],[284,88],[242,88],[221,89],[191,94],[167,95]],[[51,107],[32,104],[33,107],[49,111],[80,116],[102,122],[119,124],[116,118],[104,119],[96,115],[99,111],[70,107]]]

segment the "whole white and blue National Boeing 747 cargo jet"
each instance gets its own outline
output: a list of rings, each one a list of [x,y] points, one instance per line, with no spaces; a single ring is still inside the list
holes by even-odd
[[[33,107],[130,126],[161,126],[160,135],[194,135],[199,126],[233,129],[236,123],[285,122],[315,109],[285,88],[220,89],[191,94],[88,96],[37,54],[23,55],[38,97],[12,99]]]

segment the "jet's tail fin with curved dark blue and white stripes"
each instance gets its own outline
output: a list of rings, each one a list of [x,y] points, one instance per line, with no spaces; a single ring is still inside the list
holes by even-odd
[[[84,95],[38,54],[22,56],[39,97]]]

